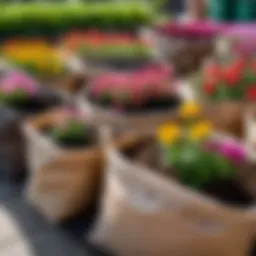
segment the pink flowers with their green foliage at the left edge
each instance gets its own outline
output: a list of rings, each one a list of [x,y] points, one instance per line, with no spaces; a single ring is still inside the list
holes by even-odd
[[[0,102],[8,106],[20,106],[39,91],[38,84],[22,72],[11,72],[0,81]]]

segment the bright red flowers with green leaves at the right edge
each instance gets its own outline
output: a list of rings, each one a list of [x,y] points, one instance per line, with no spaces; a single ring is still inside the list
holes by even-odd
[[[206,65],[200,82],[203,94],[216,101],[256,101],[256,62],[237,59],[232,63]]]

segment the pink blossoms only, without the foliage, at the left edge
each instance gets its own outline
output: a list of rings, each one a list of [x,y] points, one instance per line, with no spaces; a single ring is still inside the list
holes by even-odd
[[[33,96],[38,92],[38,84],[30,76],[14,71],[2,79],[0,90],[6,94],[23,90]]]

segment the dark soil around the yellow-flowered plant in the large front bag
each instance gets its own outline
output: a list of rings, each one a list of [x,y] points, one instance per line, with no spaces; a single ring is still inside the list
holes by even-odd
[[[133,161],[137,161],[152,170],[159,171],[166,177],[176,179],[172,170],[166,170],[159,157],[159,147],[153,139],[146,139],[124,152]],[[223,203],[234,206],[249,206],[255,202],[256,195],[249,193],[246,187],[246,180],[253,178],[256,183],[256,176],[251,176],[251,171],[246,168],[238,171],[237,177],[229,181],[218,181],[206,184],[199,192],[215,198]],[[250,177],[249,177],[250,176]]]

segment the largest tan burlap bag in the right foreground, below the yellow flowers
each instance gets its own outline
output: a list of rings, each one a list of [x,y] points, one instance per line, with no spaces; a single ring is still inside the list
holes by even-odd
[[[103,195],[91,240],[119,256],[247,256],[255,239],[253,209],[192,192],[112,147]]]

